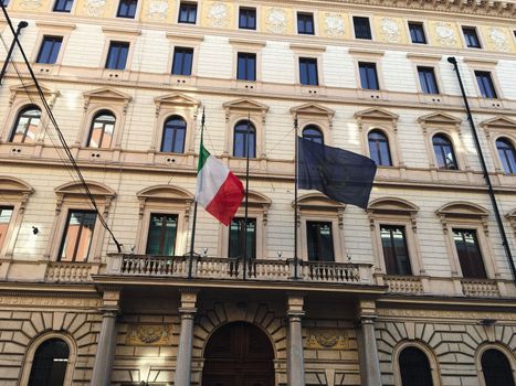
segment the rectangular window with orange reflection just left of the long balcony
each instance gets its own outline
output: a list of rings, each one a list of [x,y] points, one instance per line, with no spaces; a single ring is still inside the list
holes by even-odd
[[[60,261],[87,260],[96,217],[93,211],[70,211],[59,254]]]

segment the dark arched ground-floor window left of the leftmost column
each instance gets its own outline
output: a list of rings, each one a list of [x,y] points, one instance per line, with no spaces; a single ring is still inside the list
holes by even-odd
[[[40,344],[32,362],[29,386],[62,386],[69,364],[70,347],[61,339]]]

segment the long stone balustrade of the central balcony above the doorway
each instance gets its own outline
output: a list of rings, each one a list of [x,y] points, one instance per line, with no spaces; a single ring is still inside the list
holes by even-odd
[[[370,264],[302,261],[293,259],[233,259],[194,256],[110,255],[107,275],[200,279],[249,279],[372,285]],[[297,277],[296,277],[297,275]]]

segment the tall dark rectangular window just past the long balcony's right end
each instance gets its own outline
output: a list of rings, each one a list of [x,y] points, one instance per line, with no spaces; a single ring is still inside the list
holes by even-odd
[[[380,225],[380,236],[387,275],[412,275],[404,226]]]

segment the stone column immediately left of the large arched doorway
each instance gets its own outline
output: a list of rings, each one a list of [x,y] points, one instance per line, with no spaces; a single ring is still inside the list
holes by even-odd
[[[197,308],[197,291],[181,291],[181,332],[179,335],[179,347],[176,361],[176,386],[190,386],[191,382],[191,358],[193,341],[193,318]]]

